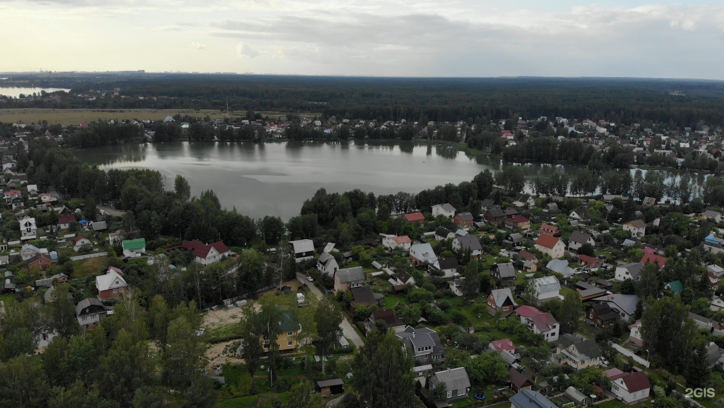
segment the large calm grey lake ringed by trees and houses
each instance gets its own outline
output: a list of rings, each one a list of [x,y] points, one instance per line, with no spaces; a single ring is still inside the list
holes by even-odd
[[[395,141],[278,143],[167,142],[103,146],[75,151],[104,170],[159,170],[172,188],[177,174],[192,195],[211,188],[222,206],[253,218],[298,215],[304,200],[327,191],[360,188],[376,194],[417,193],[445,183],[469,181],[499,159],[468,157],[452,146]],[[524,167],[526,175],[565,171],[563,167]]]

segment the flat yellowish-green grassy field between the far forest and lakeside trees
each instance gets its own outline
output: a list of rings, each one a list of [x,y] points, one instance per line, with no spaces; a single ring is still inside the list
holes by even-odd
[[[258,112],[269,117],[287,115],[285,112]],[[0,122],[16,122],[22,120],[25,123],[41,122],[60,123],[61,125],[77,125],[80,122],[93,122],[98,120],[159,120],[176,114],[189,115],[194,117],[206,117],[211,119],[223,119],[226,112],[214,109],[0,109]],[[319,116],[315,113],[305,113],[304,116]],[[230,117],[246,116],[246,112],[230,111]]]

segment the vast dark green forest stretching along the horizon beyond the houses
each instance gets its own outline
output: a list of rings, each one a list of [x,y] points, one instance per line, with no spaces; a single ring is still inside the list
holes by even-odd
[[[436,122],[568,117],[671,127],[724,123],[724,83],[634,78],[359,78],[282,75],[21,74],[7,85],[111,91],[120,96],[63,99],[59,108],[230,109],[319,112],[324,117]],[[139,99],[139,98],[143,99]],[[151,98],[150,98],[151,97]],[[153,98],[156,97],[156,98]],[[0,108],[51,107],[1,99]],[[477,122],[477,121],[476,121]]]

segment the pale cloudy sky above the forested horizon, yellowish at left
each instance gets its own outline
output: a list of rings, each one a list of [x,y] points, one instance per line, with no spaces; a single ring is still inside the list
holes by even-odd
[[[2,71],[723,79],[724,4],[0,0]]]

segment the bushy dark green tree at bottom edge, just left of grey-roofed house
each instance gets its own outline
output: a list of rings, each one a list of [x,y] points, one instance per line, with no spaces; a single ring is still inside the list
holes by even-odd
[[[413,362],[394,333],[373,331],[355,354],[353,385],[368,407],[413,408],[415,397]]]

